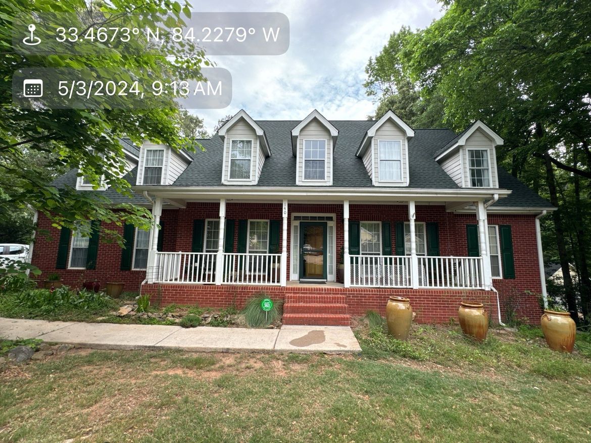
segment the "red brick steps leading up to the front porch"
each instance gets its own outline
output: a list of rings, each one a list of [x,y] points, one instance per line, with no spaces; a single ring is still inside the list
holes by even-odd
[[[349,326],[345,295],[285,294],[285,325]]]

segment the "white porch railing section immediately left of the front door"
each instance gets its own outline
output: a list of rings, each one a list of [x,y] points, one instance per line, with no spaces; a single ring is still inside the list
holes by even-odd
[[[281,254],[225,253],[222,283],[279,285],[281,283]]]

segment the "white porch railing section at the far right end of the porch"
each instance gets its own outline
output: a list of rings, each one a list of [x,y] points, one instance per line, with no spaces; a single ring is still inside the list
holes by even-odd
[[[421,288],[484,287],[482,257],[418,257]]]

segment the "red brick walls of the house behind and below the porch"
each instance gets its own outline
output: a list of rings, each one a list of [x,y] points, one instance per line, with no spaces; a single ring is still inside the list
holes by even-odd
[[[452,214],[445,211],[444,206],[420,206],[417,205],[417,222],[439,223],[439,238],[441,255],[467,255],[466,224],[475,224],[476,216],[472,214]],[[291,269],[291,216],[293,213],[324,213],[336,214],[336,258],[343,245],[343,206],[342,204],[301,204],[289,205],[288,213],[288,276]],[[395,242],[395,222],[408,221],[408,208],[402,205],[361,205],[351,204],[349,208],[349,219],[359,221],[382,221],[391,222],[392,243]],[[219,203],[188,203],[186,209],[167,209],[163,211],[161,220],[164,226],[163,250],[167,252],[191,250],[193,239],[194,219],[217,219],[219,217]],[[226,204],[226,219],[271,219],[281,220],[281,203],[232,203]],[[541,315],[538,304],[538,294],[541,292],[540,275],[538,271],[537,243],[535,239],[534,216],[524,215],[491,215],[488,218],[489,224],[510,224],[512,227],[512,239],[515,257],[515,279],[494,279],[493,285],[499,291],[501,301],[501,314],[505,318],[506,310],[513,307],[517,317],[528,318],[537,323]],[[34,247],[33,264],[38,266],[43,274],[59,272],[66,284],[80,286],[84,280],[98,279],[103,284],[107,280],[119,280],[125,282],[126,291],[137,291],[139,283],[144,279],[143,271],[119,271],[121,262],[121,249],[115,243],[107,244],[100,242],[96,270],[78,269],[55,269],[57,256],[57,243],[59,241],[59,230],[51,227],[46,217],[40,214],[39,229],[47,230],[53,239],[38,236]],[[121,228],[110,226],[111,229]],[[238,223],[235,223],[234,247],[238,245]],[[392,245],[393,250],[395,245]],[[153,289],[153,288],[152,288]],[[323,288],[313,288],[319,291]],[[260,290],[252,286],[186,286],[170,285],[166,297],[169,302],[198,302],[200,305],[217,306],[227,304],[228,298],[236,294],[240,305],[245,297]],[[285,294],[289,288],[269,288],[273,294]],[[144,289],[145,291],[145,289]],[[361,292],[360,292],[361,291]],[[374,292],[377,291],[377,292]],[[349,289],[350,309],[356,310],[359,314],[368,309],[379,310],[385,306],[386,294],[402,294],[411,291],[410,289]],[[194,292],[194,294],[193,294]],[[459,298],[466,294],[456,294],[457,291],[446,291],[445,294],[438,294],[433,291],[414,291],[417,302],[420,300],[421,315],[423,318],[437,321],[447,321],[453,315],[452,311],[443,307],[443,301],[452,298],[456,303]],[[482,292],[482,291],[477,291]],[[486,297],[491,294],[485,292]],[[467,294],[472,295],[472,294]],[[482,295],[476,294],[478,297]],[[454,298],[455,297],[455,298]],[[280,297],[282,298],[282,297]],[[365,301],[364,301],[365,300]],[[496,305],[496,296],[495,296]],[[456,303],[457,304],[457,303]],[[383,305],[383,306],[382,306]],[[381,308],[382,307],[382,308]],[[418,307],[417,307],[418,308]],[[429,320],[431,321],[431,320]]]

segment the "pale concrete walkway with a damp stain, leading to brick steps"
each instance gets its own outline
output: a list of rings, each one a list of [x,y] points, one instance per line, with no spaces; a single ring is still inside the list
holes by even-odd
[[[204,352],[361,352],[346,326],[291,326],[246,329],[77,323],[0,317],[0,337],[40,338],[98,349],[183,349]]]

